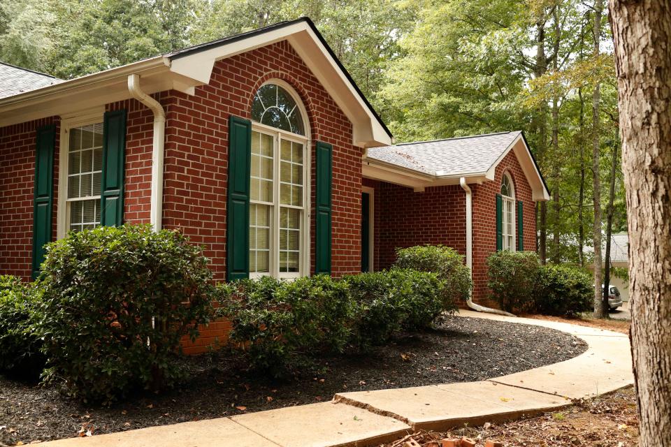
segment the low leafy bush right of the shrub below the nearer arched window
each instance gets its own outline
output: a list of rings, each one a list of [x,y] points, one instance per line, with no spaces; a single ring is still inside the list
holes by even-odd
[[[442,312],[452,312],[443,283],[435,273],[393,268],[345,278],[356,303],[353,340],[366,348],[386,342],[394,332],[430,326]]]

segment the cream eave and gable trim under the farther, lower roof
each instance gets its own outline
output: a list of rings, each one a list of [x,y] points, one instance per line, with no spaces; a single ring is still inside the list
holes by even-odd
[[[483,172],[443,173],[442,171],[437,171],[434,174],[428,174],[419,170],[404,168],[394,163],[371,159],[364,155],[363,177],[406,186],[414,189],[414,191],[424,191],[424,189],[431,186],[459,184],[461,177],[464,177],[468,184],[481,184],[494,179],[496,168],[510,151],[513,151],[515,156],[517,156],[522,171],[531,186],[531,198],[533,201],[541,202],[549,200],[550,196],[547,186],[526,143],[524,133],[520,133],[490,168]],[[474,156],[477,156],[477,154],[474,154]]]

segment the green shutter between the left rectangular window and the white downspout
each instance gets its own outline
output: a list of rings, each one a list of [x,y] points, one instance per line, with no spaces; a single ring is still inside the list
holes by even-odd
[[[100,223],[121,226],[124,218],[126,110],[105,112]]]

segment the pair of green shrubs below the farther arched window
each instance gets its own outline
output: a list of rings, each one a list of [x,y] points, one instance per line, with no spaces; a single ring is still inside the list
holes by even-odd
[[[487,258],[492,298],[507,312],[573,317],[592,310],[593,279],[568,265],[540,265],[533,251],[498,251]]]

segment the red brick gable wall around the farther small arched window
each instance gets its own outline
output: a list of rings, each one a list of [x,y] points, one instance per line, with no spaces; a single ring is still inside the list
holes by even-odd
[[[531,186],[524,175],[517,156],[510,151],[496,167],[493,182],[471,185],[473,191],[473,300],[493,306],[487,297],[486,258],[496,251],[496,194],[500,192],[503,173],[509,173],[515,188],[515,199],[524,203],[524,249],[536,249],[536,221],[531,200]],[[517,211],[515,212],[517,228]],[[516,239],[517,240],[517,239]]]

